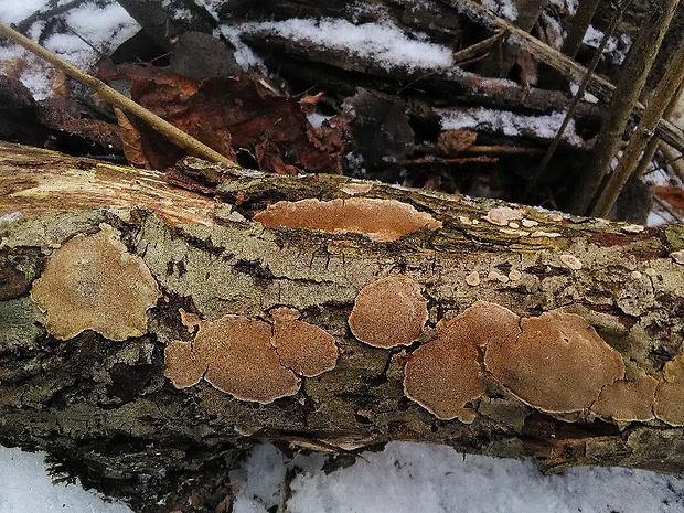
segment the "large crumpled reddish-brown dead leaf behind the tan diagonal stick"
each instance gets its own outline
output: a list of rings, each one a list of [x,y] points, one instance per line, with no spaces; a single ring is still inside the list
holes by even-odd
[[[249,76],[196,82],[143,66],[104,68],[130,81],[131,97],[222,154],[246,150],[264,171],[340,172],[340,156],[319,147],[299,101],[278,96]],[[184,154],[145,124],[131,119],[150,165],[167,169]]]

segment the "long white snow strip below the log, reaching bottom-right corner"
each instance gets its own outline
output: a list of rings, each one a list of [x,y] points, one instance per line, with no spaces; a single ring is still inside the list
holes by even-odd
[[[684,481],[641,470],[584,467],[543,477],[531,460],[463,456],[445,446],[391,442],[328,475],[324,457],[286,463],[271,445],[254,449],[239,471],[234,513],[265,513],[282,502],[288,468],[291,513],[674,513],[684,507]]]

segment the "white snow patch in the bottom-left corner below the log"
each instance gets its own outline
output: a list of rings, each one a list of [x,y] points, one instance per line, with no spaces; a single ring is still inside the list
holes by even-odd
[[[125,504],[86,491],[79,483],[53,484],[44,452],[0,447],[0,513],[131,513]]]

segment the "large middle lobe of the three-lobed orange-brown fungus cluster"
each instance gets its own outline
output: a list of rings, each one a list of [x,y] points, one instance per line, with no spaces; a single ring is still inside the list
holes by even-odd
[[[241,400],[267,404],[295,395],[300,381],[280,364],[270,334],[269,324],[242,316],[203,322],[193,352],[206,365],[204,378]]]

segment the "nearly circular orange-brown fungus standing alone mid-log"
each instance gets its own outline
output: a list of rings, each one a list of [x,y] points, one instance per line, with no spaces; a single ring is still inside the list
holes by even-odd
[[[359,292],[349,325],[361,342],[394,348],[415,341],[427,319],[427,300],[420,295],[420,286],[406,276],[393,275]]]

